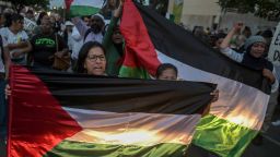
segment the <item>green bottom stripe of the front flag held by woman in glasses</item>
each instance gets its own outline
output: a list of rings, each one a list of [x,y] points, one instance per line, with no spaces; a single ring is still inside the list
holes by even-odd
[[[153,146],[135,146],[63,141],[44,157],[163,157],[166,155],[182,157],[186,149],[187,145],[166,143]]]

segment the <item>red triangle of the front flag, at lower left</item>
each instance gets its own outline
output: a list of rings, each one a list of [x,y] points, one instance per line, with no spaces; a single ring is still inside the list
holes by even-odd
[[[48,87],[26,68],[11,68],[10,86],[8,157],[42,157],[82,130]]]

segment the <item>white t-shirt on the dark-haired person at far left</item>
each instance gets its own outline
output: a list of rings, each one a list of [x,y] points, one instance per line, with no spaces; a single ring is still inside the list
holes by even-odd
[[[19,44],[20,41],[28,40],[28,36],[25,31],[21,31],[18,34],[13,34],[9,27],[3,27],[0,29],[0,35],[7,40],[8,44]],[[12,53],[19,51],[19,49],[10,50],[11,59],[13,59]],[[24,58],[24,55],[16,59]]]

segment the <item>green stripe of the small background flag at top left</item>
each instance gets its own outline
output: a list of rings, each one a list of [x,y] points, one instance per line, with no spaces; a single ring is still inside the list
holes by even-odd
[[[89,5],[71,5],[70,15],[71,16],[83,16],[92,15],[100,12],[100,8],[89,7]]]

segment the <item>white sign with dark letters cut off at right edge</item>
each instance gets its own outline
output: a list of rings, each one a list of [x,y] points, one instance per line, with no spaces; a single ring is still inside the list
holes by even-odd
[[[280,23],[277,26],[272,41],[269,47],[268,59],[277,67],[280,67]]]

